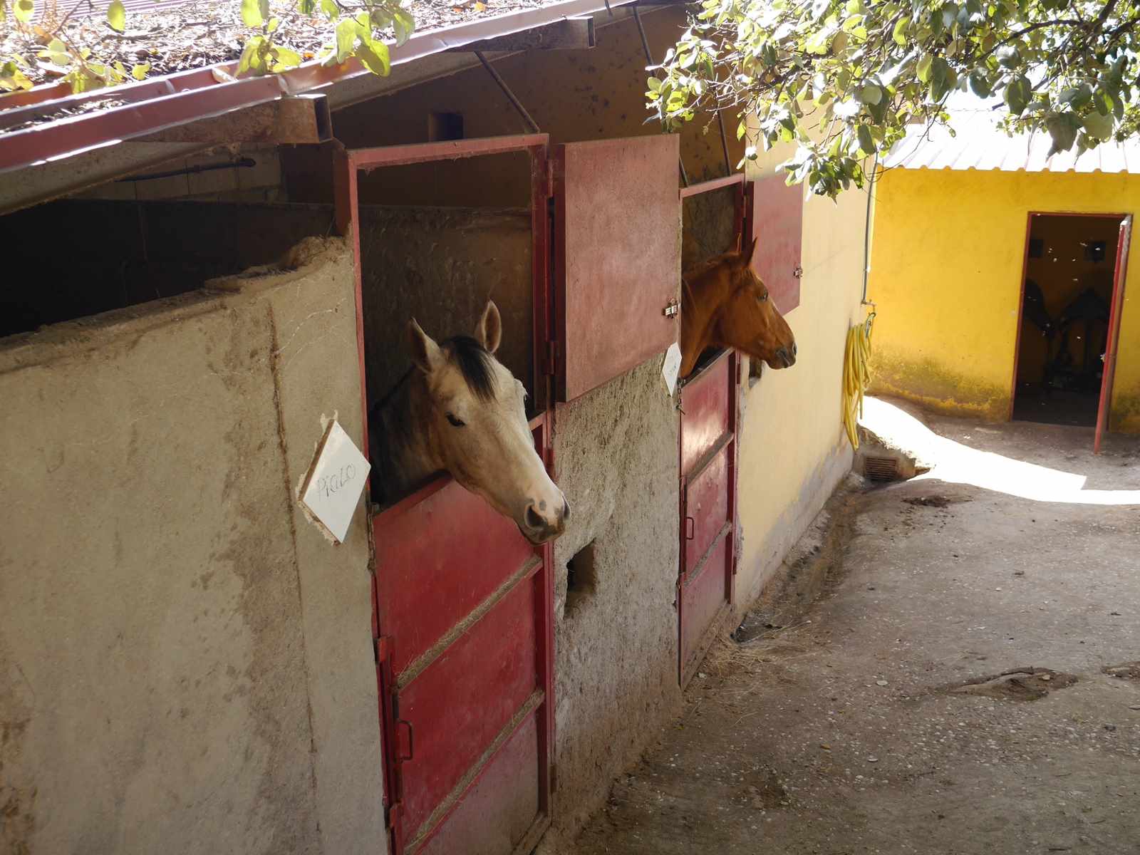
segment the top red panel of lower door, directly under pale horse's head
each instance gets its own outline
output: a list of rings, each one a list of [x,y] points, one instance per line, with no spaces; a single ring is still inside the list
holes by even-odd
[[[377,515],[374,537],[396,674],[535,556],[513,522],[451,479]]]

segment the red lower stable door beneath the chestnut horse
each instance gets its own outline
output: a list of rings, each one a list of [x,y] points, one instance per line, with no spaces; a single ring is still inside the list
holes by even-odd
[[[681,389],[678,674],[687,685],[728,618],[736,572],[740,356],[720,351]]]

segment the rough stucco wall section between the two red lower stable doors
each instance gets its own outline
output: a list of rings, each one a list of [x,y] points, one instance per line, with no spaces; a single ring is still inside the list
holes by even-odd
[[[656,357],[560,406],[554,544],[555,852],[676,711],[677,413]],[[593,591],[567,609],[567,562],[594,544]]]

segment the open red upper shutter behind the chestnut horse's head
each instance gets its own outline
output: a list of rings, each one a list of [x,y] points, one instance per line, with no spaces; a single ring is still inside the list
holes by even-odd
[[[799,306],[804,188],[789,187],[783,176],[755,181],[751,187],[751,234],[758,238],[752,269],[781,314]]]

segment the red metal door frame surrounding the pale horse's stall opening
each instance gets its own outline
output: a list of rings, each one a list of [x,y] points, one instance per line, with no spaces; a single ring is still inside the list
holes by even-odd
[[[544,406],[545,412],[540,413],[530,422],[531,430],[538,434],[538,448],[547,471],[553,473],[553,389],[551,383],[551,341],[552,341],[552,315],[551,315],[551,226],[548,199],[551,197],[549,171],[547,168],[547,153],[549,148],[549,137],[545,133],[520,135],[510,137],[489,137],[480,139],[449,140],[443,142],[427,142],[418,145],[385,146],[378,148],[347,149],[340,147],[336,152],[335,168],[333,176],[336,230],[347,237],[352,246],[353,276],[356,292],[356,317],[357,317],[357,351],[360,366],[360,418],[364,426],[364,454],[368,454],[368,392],[365,366],[365,337],[364,337],[364,311],[361,292],[361,258],[360,258],[360,228],[359,217],[359,189],[358,177],[361,171],[368,172],[383,166],[400,166],[413,163],[425,163],[440,160],[458,160],[464,157],[475,157],[480,155],[504,154],[511,152],[526,152],[530,155],[531,182],[530,182],[530,212],[531,212],[531,271],[534,282],[534,374],[536,386],[545,384]],[[538,390],[535,390],[536,398]],[[416,494],[405,498],[396,507],[410,507],[422,502],[431,494],[438,491],[447,484],[449,479],[440,478],[425,486]],[[369,514],[369,528],[372,516]],[[527,841],[537,842],[542,831],[549,824],[551,820],[551,766],[553,763],[554,748],[554,584],[553,584],[553,546],[545,544],[537,547],[536,552],[542,555],[542,569],[544,573],[543,584],[539,586],[540,602],[536,602],[536,627],[538,650],[539,682],[543,687],[542,707],[538,727],[538,809],[539,819],[536,826],[527,837]],[[376,577],[373,573],[372,580],[372,634],[376,653],[376,679],[380,694],[380,730],[382,747],[382,765],[384,768],[384,804],[383,809],[389,828],[390,852],[392,855],[401,855],[407,840],[404,838],[405,830],[399,821],[399,777],[397,768],[399,758],[397,757],[397,720],[393,715],[392,700],[396,692],[396,682],[391,670],[386,644],[383,630],[380,626],[380,610],[377,600]],[[482,771],[490,766],[491,758],[487,758]],[[482,774],[480,772],[480,775]],[[478,783],[477,776],[469,784],[470,788]],[[448,811],[450,814],[456,805]],[[393,809],[394,808],[394,809]],[[442,826],[447,815],[438,819],[434,830]],[[429,836],[420,841],[425,845],[430,840]],[[536,833],[537,832],[537,833]],[[418,848],[418,847],[417,847]]]

